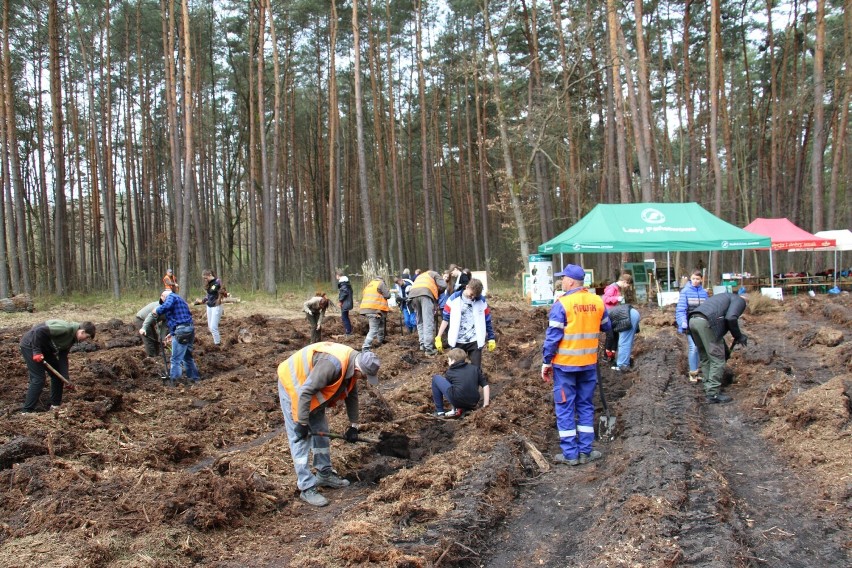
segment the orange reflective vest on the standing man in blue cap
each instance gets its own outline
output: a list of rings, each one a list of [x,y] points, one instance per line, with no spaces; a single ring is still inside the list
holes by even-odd
[[[551,362],[566,367],[594,365],[598,360],[598,340],[605,313],[603,300],[582,290],[566,294],[557,302],[565,309],[567,322]]]

